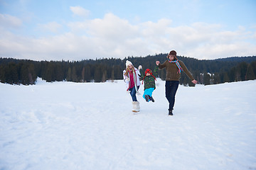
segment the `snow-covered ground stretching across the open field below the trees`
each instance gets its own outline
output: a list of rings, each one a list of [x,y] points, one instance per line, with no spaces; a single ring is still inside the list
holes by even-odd
[[[156,83],[137,115],[123,81],[0,84],[0,169],[256,169],[256,81],[179,86],[174,116]]]

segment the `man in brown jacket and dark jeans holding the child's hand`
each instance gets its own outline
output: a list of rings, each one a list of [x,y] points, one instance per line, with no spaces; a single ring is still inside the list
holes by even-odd
[[[177,59],[176,51],[172,50],[167,56],[163,64],[160,64],[159,61],[156,61],[156,65],[159,69],[166,68],[166,98],[169,101],[169,115],[173,115],[175,95],[178,89],[179,79],[181,79],[181,72],[185,72],[186,75],[191,79],[193,84],[196,84],[197,81],[193,78],[191,73],[188,71],[186,65]]]

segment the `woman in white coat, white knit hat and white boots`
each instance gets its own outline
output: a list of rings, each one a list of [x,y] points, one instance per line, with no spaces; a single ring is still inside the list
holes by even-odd
[[[139,77],[141,76],[139,70],[135,68],[130,61],[126,61],[126,69],[124,69],[123,76],[124,82],[127,84],[127,91],[132,96],[132,111],[139,112],[139,101],[137,101],[136,94],[139,91],[139,86],[141,85]]]

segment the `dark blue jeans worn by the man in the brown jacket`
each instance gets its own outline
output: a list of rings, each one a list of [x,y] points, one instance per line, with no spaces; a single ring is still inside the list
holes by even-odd
[[[169,111],[174,110],[175,94],[179,81],[166,81],[166,98],[169,101]]]

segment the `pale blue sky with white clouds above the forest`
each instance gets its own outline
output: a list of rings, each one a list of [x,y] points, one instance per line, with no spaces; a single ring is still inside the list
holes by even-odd
[[[0,57],[252,56],[255,8],[255,0],[0,0]]]

